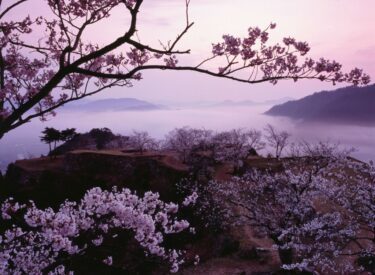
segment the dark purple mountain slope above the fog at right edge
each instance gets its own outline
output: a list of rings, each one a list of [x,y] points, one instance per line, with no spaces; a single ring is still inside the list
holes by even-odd
[[[318,92],[276,105],[265,114],[304,121],[375,124],[375,84]]]

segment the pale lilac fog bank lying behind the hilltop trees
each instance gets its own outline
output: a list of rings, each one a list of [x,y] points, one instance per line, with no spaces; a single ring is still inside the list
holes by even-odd
[[[292,133],[292,139],[338,141],[343,146],[355,147],[353,155],[361,160],[375,159],[375,128],[353,125],[306,124],[283,117],[271,117],[262,113],[271,106],[183,108],[152,111],[119,112],[67,112],[60,111],[47,122],[34,120],[7,134],[0,141],[0,168],[16,159],[46,154],[48,145],[40,142],[40,133],[45,127],[57,129],[76,128],[86,132],[92,128],[107,127],[114,133],[129,134],[132,130],[148,131],[155,138],[175,127],[191,126],[212,130],[233,128],[255,128],[262,130],[267,123],[277,129]],[[266,154],[264,150],[260,152]]]

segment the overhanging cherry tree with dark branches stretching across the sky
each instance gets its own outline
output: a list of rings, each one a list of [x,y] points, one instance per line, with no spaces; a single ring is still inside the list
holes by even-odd
[[[348,73],[328,59],[312,60],[306,42],[286,37],[269,43],[272,23],[264,29],[251,27],[243,38],[227,34],[212,44],[211,54],[195,65],[179,65],[181,38],[191,29],[186,4],[186,25],[177,37],[158,46],[137,38],[137,22],[143,0],[48,0],[50,15],[12,20],[29,0],[0,2],[0,138],[33,118],[45,119],[71,101],[115,86],[131,87],[148,70],[194,71],[249,84],[283,79],[319,79],[332,83],[367,84],[360,69]],[[87,41],[111,13],[123,10],[128,28],[108,43]],[[220,63],[217,69],[211,69]],[[215,65],[216,66],[216,65]]]

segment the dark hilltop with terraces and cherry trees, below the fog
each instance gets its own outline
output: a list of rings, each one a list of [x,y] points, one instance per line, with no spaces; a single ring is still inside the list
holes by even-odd
[[[200,133],[206,139],[186,148],[187,152],[181,151],[181,144],[173,148],[171,141],[176,141],[176,137],[180,138],[183,131],[196,136]],[[140,196],[151,191],[163,201],[181,202],[175,208],[180,211],[178,217],[186,219],[193,229],[163,236],[167,248],[173,245],[185,251],[185,262],[181,265],[179,274],[281,275],[313,274],[315,270],[320,271],[319,264],[293,273],[281,268],[287,261],[300,259],[300,254],[294,254],[290,249],[275,249],[275,245],[282,244],[278,236],[282,237],[280,234],[287,232],[292,226],[296,228],[294,230],[302,231],[293,231],[291,237],[305,236],[305,229],[308,234],[311,233],[295,244],[291,242],[295,249],[301,248],[302,253],[307,253],[304,254],[306,257],[310,255],[310,248],[313,253],[319,253],[321,249],[326,251],[327,247],[333,247],[332,242],[335,245],[333,252],[341,244],[346,247],[345,235],[341,231],[338,239],[335,235],[338,229],[341,230],[341,226],[345,230],[347,226],[338,219],[341,214],[338,216],[339,212],[336,211],[350,206],[340,205],[339,202],[343,196],[349,196],[352,200],[353,194],[358,193],[355,189],[357,186],[361,192],[372,192],[375,179],[371,177],[371,183],[367,185],[364,177],[371,176],[368,174],[371,170],[368,170],[365,163],[346,155],[341,157],[339,152],[334,153],[335,148],[325,144],[318,147],[309,145],[305,148],[309,150],[309,154],[304,153],[304,148],[300,147],[300,154],[283,158],[262,157],[254,147],[249,150],[246,146],[245,151],[248,152],[245,155],[233,155],[237,143],[224,142],[223,133],[207,139],[208,133],[205,130],[183,128],[169,135],[169,143],[166,143],[169,145],[166,147],[137,150],[130,142],[134,136],[114,135],[107,128],[93,129],[56,148],[49,157],[18,160],[9,165],[7,173],[0,178],[0,197],[13,197],[21,203],[33,200],[41,209],[51,207],[48,209],[57,211],[67,199],[78,203],[82,197],[86,198],[87,190],[93,190],[92,188],[100,188],[105,192],[129,188]],[[238,133],[232,131],[225,134],[233,137]],[[191,141],[192,137],[187,137]],[[147,138],[145,136],[143,141]],[[329,180],[332,172],[338,173],[337,181],[336,178],[332,182]],[[319,184],[316,179],[321,177],[325,177],[327,182]],[[341,179],[345,182],[341,182]],[[346,182],[347,179],[351,181]],[[114,187],[116,188],[113,189]],[[326,187],[336,188],[334,190],[338,190],[337,192],[328,193],[330,196],[340,194],[340,200],[331,200],[326,195]],[[343,187],[344,189],[340,189]],[[347,194],[340,193],[343,190],[348,190]],[[190,207],[186,203],[186,196],[191,192],[196,195],[196,202]],[[92,198],[98,197],[95,195]],[[112,196],[108,196],[110,198]],[[368,201],[363,200],[363,196],[359,200],[360,207],[361,203],[366,206]],[[123,203],[124,201],[121,205]],[[117,207],[118,204],[113,205]],[[98,208],[94,207],[94,210],[101,211],[101,206],[98,204]],[[358,204],[355,204],[355,209],[358,209]],[[367,226],[371,222],[372,212],[368,218],[365,216],[367,212],[353,214],[349,210],[346,209],[342,214],[343,219],[347,219],[347,215],[353,215],[353,218],[362,219],[361,225]],[[6,212],[8,213],[13,214],[13,208]],[[303,226],[299,227],[298,223],[301,221]],[[263,222],[267,226],[263,226]],[[317,232],[314,231],[315,227],[310,229],[310,225],[315,224],[321,226],[317,228]],[[89,247],[91,250],[88,253],[91,254],[72,263],[80,271],[79,274],[170,274],[168,266],[145,254],[142,247],[132,240],[132,232],[114,229],[108,231],[110,234],[105,239],[105,245]],[[273,235],[272,232],[279,235]],[[371,233],[361,235],[356,232],[355,236],[350,234],[349,237],[350,242],[352,238],[360,238],[361,249],[373,249]],[[308,252],[305,252],[305,247]],[[118,264],[107,267],[102,261],[96,260],[106,251],[111,251]],[[322,259],[332,260],[332,265],[340,265],[345,260],[329,255]],[[197,257],[200,262],[198,265]],[[82,264],[82,259],[86,261],[85,264]],[[350,261],[353,266],[360,264],[367,270],[373,270],[371,257],[351,257]]]

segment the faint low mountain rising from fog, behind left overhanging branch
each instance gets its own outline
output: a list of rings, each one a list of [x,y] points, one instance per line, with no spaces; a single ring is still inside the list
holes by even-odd
[[[165,109],[161,105],[149,103],[135,98],[109,98],[95,101],[83,101],[68,104],[69,111],[108,112],[108,111],[150,111]]]

